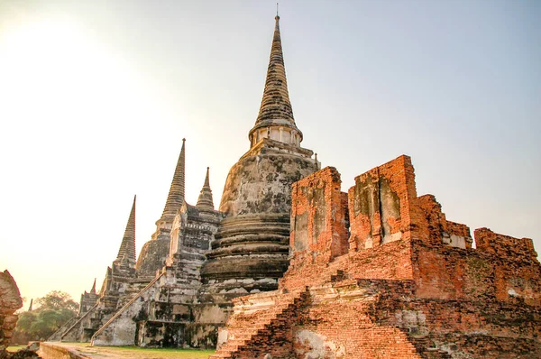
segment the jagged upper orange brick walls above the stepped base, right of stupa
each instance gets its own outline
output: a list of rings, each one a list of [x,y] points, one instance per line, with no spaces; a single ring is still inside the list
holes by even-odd
[[[419,298],[539,303],[532,241],[483,228],[473,249],[468,226],[448,221],[433,195],[417,198],[408,156],[355,179],[349,216],[340,182],[339,173],[326,168],[294,184],[292,260],[281,280],[286,288],[347,272],[356,279],[415,280]],[[349,253],[340,256],[348,221]]]

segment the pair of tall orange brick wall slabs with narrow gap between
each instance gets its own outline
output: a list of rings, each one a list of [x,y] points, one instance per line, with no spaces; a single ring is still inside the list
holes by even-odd
[[[410,207],[417,198],[414,179],[409,157],[400,156],[358,176],[347,195],[332,167],[296,182],[292,259],[280,285],[289,289],[314,285],[337,272],[359,279],[412,279],[409,240],[417,230],[410,222]]]

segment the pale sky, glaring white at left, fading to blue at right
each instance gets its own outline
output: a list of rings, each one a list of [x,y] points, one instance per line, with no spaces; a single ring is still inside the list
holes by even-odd
[[[248,151],[273,1],[0,0],[0,270],[78,300],[137,195],[151,239],[186,138],[186,199],[215,207]],[[355,176],[411,156],[448,220],[541,251],[541,2],[282,1],[303,147]]]

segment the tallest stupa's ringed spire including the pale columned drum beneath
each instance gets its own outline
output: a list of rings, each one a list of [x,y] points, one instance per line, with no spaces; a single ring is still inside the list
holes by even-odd
[[[293,109],[289,101],[288,80],[280,37],[280,16],[274,18],[274,36],[272,38],[271,58],[267,69],[265,89],[261,107],[255,125],[249,133],[252,146],[261,138],[271,138],[283,143],[297,144],[302,141],[293,118]],[[281,129],[280,129],[281,128]],[[286,131],[286,134],[284,134]]]

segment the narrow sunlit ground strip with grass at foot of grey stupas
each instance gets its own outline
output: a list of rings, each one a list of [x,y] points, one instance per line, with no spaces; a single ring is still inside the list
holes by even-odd
[[[54,343],[55,345],[68,346],[82,354],[92,357],[104,358],[130,358],[130,359],[200,359],[214,354],[214,350],[199,349],[146,349],[138,346],[90,346],[88,343]]]

